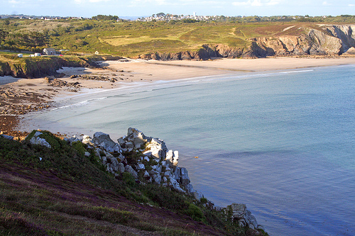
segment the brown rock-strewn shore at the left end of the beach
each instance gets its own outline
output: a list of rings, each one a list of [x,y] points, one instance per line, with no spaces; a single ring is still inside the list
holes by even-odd
[[[68,78],[60,79],[62,77]],[[114,74],[111,76],[89,74],[67,76],[65,73],[57,73],[54,76],[39,79],[41,86],[38,82],[35,83],[33,79],[24,86],[13,86],[13,84],[0,86],[0,132],[21,139],[25,138],[28,133],[21,133],[16,130],[21,115],[50,108],[53,103],[52,99],[61,91],[77,93],[84,87],[80,81],[115,83],[127,79],[116,77]],[[102,88],[102,86],[99,87]]]

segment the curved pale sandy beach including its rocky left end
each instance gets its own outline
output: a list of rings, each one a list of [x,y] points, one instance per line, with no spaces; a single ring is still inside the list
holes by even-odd
[[[131,60],[129,62],[102,62],[104,69],[60,69],[62,77],[49,79],[19,79],[0,86],[0,131],[20,137],[16,132],[18,118],[28,112],[40,111],[51,106],[52,101],[68,99],[103,89],[117,89],[139,82],[157,82],[241,74],[248,72],[326,67],[355,64],[354,57],[271,57],[262,59],[216,59],[208,61],[155,61]],[[0,78],[1,79],[1,78]],[[57,82],[50,84],[49,82]],[[28,130],[30,131],[30,130]],[[26,134],[24,134],[26,135]]]

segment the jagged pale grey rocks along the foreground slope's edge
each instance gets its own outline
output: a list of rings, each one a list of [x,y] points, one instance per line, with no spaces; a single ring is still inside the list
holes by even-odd
[[[30,137],[31,136],[31,137]],[[6,138],[11,138],[6,136]],[[28,140],[34,145],[43,145],[51,148],[45,140],[45,135],[40,131],[32,132]],[[117,142],[111,140],[108,134],[97,132],[94,137],[84,135],[83,137],[70,137],[65,140],[73,142],[83,142],[87,149],[94,150],[106,167],[107,172],[119,176],[128,172],[136,181],[141,184],[151,182],[160,184],[175,191],[190,194],[197,201],[203,201],[205,206],[224,212],[225,218],[231,219],[241,227],[250,227],[253,230],[262,229],[258,225],[256,218],[246,209],[245,204],[233,203],[226,208],[214,206],[214,203],[204,198],[204,195],[196,191],[190,183],[187,169],[178,167],[178,151],[168,150],[163,140],[155,137],[147,137],[135,128],[129,128],[124,137],[120,137]],[[89,156],[89,152],[85,152]]]

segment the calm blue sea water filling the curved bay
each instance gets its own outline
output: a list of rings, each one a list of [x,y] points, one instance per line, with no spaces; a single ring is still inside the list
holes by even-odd
[[[195,189],[246,203],[271,235],[355,235],[355,65],[157,82],[60,106],[31,128],[138,128],[180,152]]]

